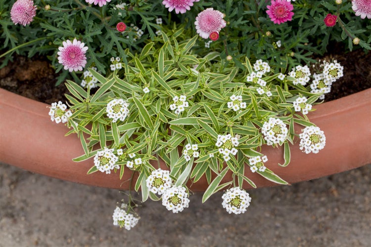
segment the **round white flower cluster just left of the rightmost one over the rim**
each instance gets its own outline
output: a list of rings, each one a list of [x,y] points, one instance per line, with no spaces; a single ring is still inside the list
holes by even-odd
[[[264,122],[262,133],[264,139],[267,141],[267,145],[270,146],[284,142],[287,137],[288,129],[282,120],[270,118],[268,122]]]

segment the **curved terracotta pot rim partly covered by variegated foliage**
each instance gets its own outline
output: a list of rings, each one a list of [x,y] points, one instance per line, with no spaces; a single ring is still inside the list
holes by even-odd
[[[83,149],[76,135],[48,116],[48,105],[0,89],[0,161],[47,176],[88,185],[128,189],[132,171],[122,180],[118,173],[87,175],[93,159],[75,163]],[[309,119],[325,131],[326,146],[318,154],[305,154],[296,143],[291,163],[281,167],[283,149],[263,146],[266,166],[289,183],[310,180],[371,163],[371,89],[315,106]],[[301,126],[295,126],[301,132]],[[297,139],[296,139],[297,140]],[[165,168],[165,164],[162,164]],[[276,185],[245,169],[257,187]],[[137,175],[137,174],[136,174]],[[136,177],[136,176],[135,176]],[[227,175],[225,181],[230,180]],[[207,188],[205,179],[190,185],[193,191]],[[246,184],[245,188],[249,188]]]

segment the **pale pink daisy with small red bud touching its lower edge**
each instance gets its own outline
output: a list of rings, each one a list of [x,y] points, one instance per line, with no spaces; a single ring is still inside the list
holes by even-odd
[[[227,25],[227,22],[223,20],[224,14],[213,8],[207,8],[204,11],[198,13],[194,25],[196,25],[197,34],[202,38],[208,39],[210,34],[217,32]]]

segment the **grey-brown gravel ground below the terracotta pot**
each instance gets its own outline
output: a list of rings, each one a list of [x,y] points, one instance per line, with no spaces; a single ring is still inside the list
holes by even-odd
[[[249,191],[242,215],[221,193],[173,214],[147,201],[131,231],[112,225],[124,195],[0,164],[0,246],[371,246],[371,165]]]

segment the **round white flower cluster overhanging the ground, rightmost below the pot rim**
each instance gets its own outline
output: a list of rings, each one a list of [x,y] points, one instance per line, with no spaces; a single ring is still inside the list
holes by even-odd
[[[229,213],[244,213],[246,208],[250,206],[251,197],[245,190],[241,190],[239,187],[234,187],[226,191],[222,196],[223,207],[226,208]]]

